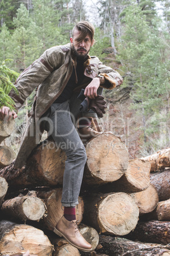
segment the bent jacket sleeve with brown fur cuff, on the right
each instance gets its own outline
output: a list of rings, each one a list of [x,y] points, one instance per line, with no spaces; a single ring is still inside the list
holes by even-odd
[[[98,72],[98,75],[103,76],[103,79],[101,79],[100,82],[100,87],[112,90],[123,82],[122,76],[117,71],[103,65],[100,60],[98,64]]]

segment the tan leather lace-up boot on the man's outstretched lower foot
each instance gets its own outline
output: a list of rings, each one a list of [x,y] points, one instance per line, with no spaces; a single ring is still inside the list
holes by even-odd
[[[81,235],[81,232],[77,227],[77,222],[78,221],[76,220],[69,222],[69,220],[66,220],[66,218],[63,216],[56,224],[53,232],[55,232],[55,234],[58,236],[63,236],[63,238],[65,238],[70,245],[75,246],[79,250],[90,252],[92,247]]]

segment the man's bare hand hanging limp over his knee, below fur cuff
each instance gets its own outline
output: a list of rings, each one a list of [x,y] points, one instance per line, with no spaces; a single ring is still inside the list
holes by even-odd
[[[100,87],[100,78],[95,77],[93,78],[91,83],[89,83],[89,85],[86,87],[84,91],[84,96],[89,97],[89,99],[95,99],[95,97],[98,96],[98,87]]]

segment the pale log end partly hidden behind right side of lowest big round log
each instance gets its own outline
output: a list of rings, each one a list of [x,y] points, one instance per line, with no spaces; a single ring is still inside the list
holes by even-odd
[[[159,202],[157,190],[151,184],[146,190],[130,194],[130,196],[133,197],[136,204],[138,205],[140,215],[154,211]]]

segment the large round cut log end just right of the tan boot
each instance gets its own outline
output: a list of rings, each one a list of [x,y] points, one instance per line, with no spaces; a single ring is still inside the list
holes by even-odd
[[[128,194],[123,192],[107,196],[98,208],[101,231],[118,236],[131,232],[138,223],[138,217],[138,206]]]

